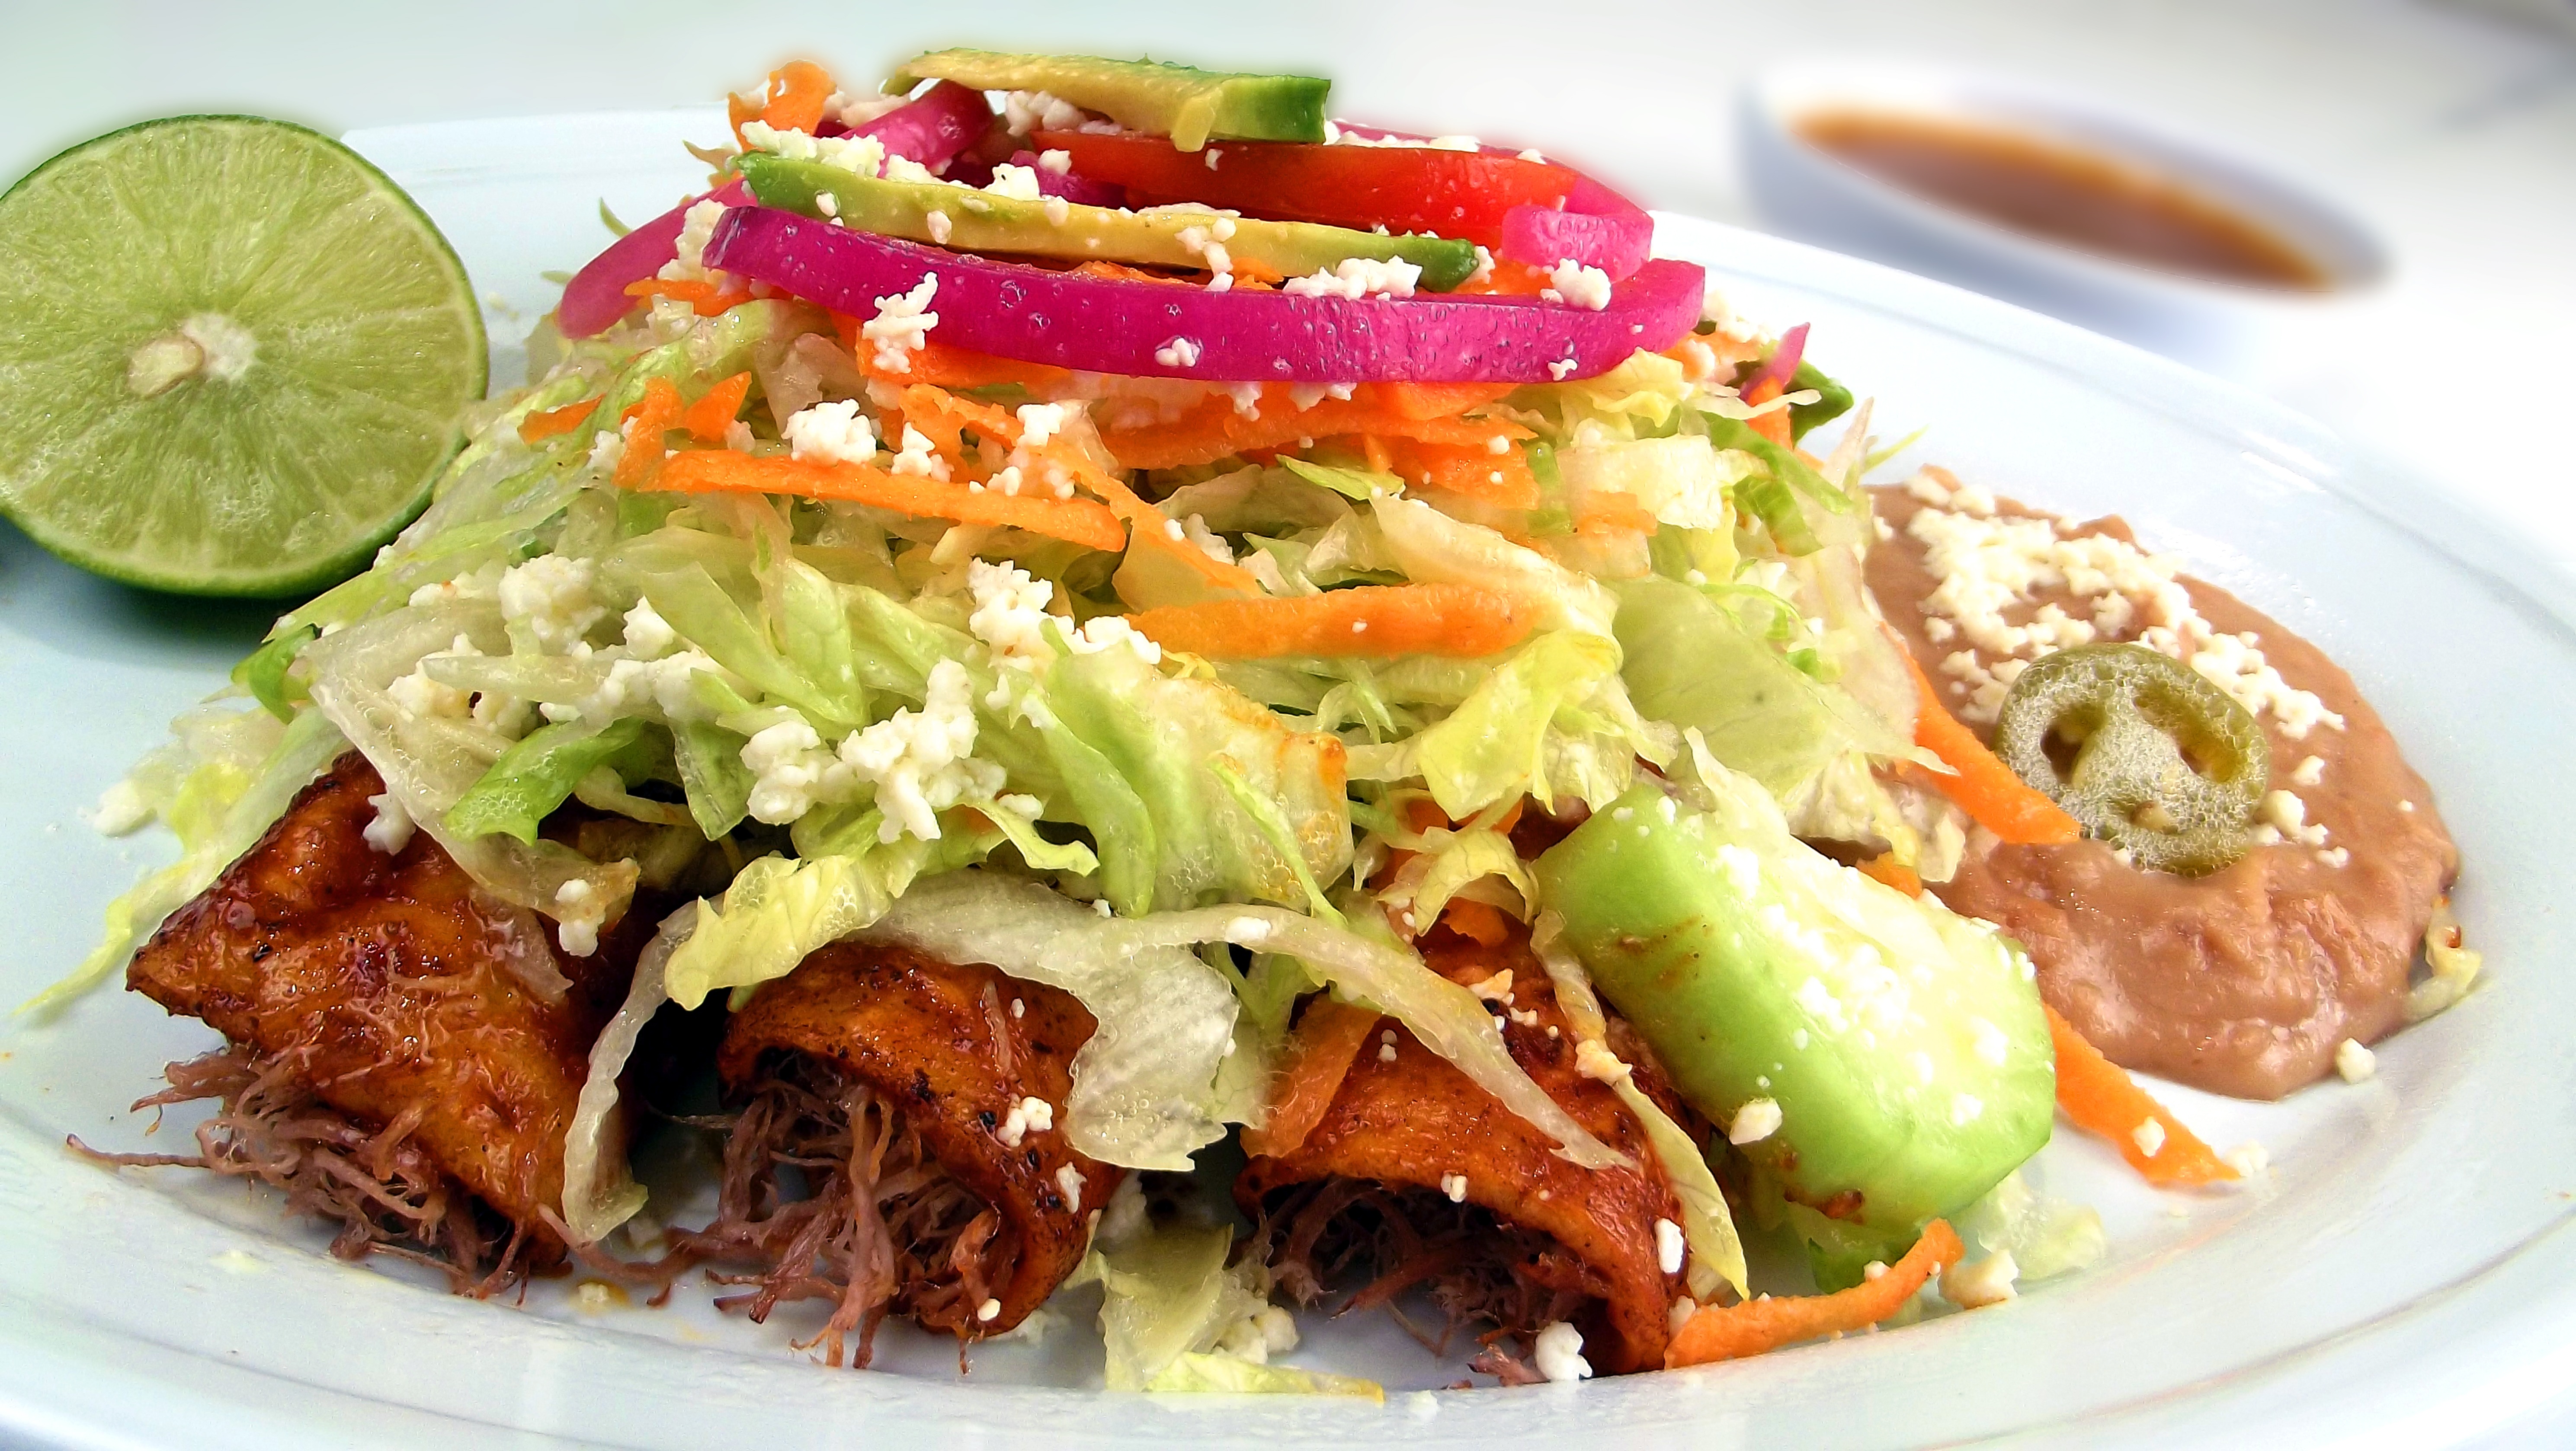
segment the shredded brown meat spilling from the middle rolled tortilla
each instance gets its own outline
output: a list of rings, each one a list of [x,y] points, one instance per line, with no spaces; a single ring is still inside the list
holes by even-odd
[[[1018,1235],[956,1180],[904,1113],[829,1062],[783,1054],[734,1119],[724,1186],[706,1229],[672,1242],[706,1260],[757,1263],[719,1283],[757,1286],[719,1296],[768,1322],[778,1304],[829,1299],[832,1317],[799,1350],[866,1366],[876,1327],[902,1309],[961,1340],[976,1309],[1020,1258]],[[845,1338],[855,1332],[858,1348]]]

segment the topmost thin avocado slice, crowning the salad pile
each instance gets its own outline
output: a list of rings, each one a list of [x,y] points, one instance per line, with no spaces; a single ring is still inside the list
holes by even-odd
[[[1195,152],[1211,137],[1236,142],[1321,142],[1329,80],[1311,75],[1239,75],[1151,59],[1041,57],[1005,52],[930,52],[886,80],[909,90],[920,80],[956,80],[976,90],[1046,90],[1100,111],[1131,131],[1172,137]]]

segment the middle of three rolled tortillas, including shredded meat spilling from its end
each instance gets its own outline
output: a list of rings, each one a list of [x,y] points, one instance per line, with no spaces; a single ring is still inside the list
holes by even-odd
[[[886,1314],[958,1340],[1020,1325],[1082,1260],[1090,1209],[1121,1178],[1056,1126],[1092,1028],[1072,995],[992,966],[817,951],[724,1031],[716,1075],[744,1108],[716,1219],[675,1242],[757,1265],[729,1281],[755,1289],[721,1302],[752,1320],[832,1299],[809,1343],[832,1363],[866,1366]]]

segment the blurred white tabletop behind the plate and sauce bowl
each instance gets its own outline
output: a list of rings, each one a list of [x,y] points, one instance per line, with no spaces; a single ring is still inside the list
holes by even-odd
[[[2535,0],[2543,3],[2543,0]],[[1468,18],[1473,15],[1473,18]],[[1257,26],[1257,28],[1255,28]],[[2576,28],[2421,0],[1391,5],[0,3],[0,180],[116,124],[325,131],[703,106],[788,54],[848,82],[920,49],[1082,49],[1334,77],[1342,116],[1538,144],[1649,206],[1752,222],[1731,101],[1762,64],[1893,54],[2079,85],[2342,198],[2391,289],[2251,387],[2378,443],[2576,570]],[[577,258],[567,258],[572,265]],[[1855,379],[1865,387],[1865,379]],[[2535,1286],[2540,1289],[2540,1286]],[[2550,1286],[2566,1294],[2568,1286]],[[2496,1446],[2576,1443],[2576,1387]]]

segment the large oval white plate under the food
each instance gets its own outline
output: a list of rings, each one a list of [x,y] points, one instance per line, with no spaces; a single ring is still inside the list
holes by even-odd
[[[711,113],[417,126],[353,137],[438,216],[526,327],[538,276],[600,245],[595,201],[667,206]],[[270,1201],[185,1170],[103,1173],[82,1134],[144,1147],[124,1103],[206,1046],[191,1021],[98,992],[0,1028],[0,1438],[67,1446],[850,1446],[976,1441],[1625,1446],[2172,1446],[2228,1438],[2403,1446],[2470,1438],[2576,1361],[2576,979],[2555,915],[2576,781],[2576,595],[2458,505],[2311,423],[2146,353],[1808,247],[1662,219],[1739,307],[1814,322],[1816,358],[1878,394],[1878,425],[2069,513],[2123,510],[2156,546],[2342,660],[2437,783],[2468,874],[2460,902],[2494,982],[2380,1052],[2360,1088],[2282,1106],[2172,1090],[2218,1144],[2262,1139],[2251,1191],[2146,1191],[2092,1142],[2040,1160],[2094,1201],[2110,1265],[2004,1309],[1759,1361],[1525,1392],[1399,1394],[1386,1407],[1108,1397],[1074,1332],[953,1356],[889,1338],[904,1374],[819,1371],[786,1332],[667,1312],[523,1309],[345,1268]],[[507,327],[507,325],[505,325]],[[502,371],[515,358],[502,351]],[[165,853],[77,812],[222,683],[260,608],[152,601],[0,533],[0,881],[15,915],[0,997],[90,946],[100,905]],[[173,1126],[160,1142],[180,1137]],[[1309,1320],[1303,1363],[1399,1387],[1443,1371],[1381,1327]],[[1036,1381],[1036,1384],[1030,1384]],[[1072,1387],[1072,1389],[1064,1389]],[[1587,1441],[1589,1443],[1589,1441]]]

